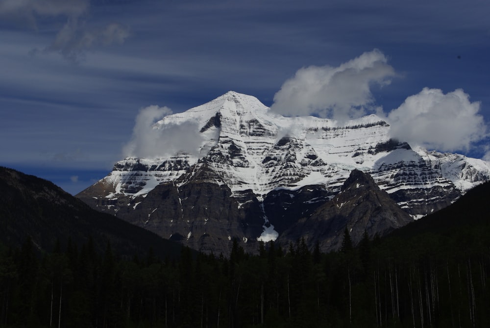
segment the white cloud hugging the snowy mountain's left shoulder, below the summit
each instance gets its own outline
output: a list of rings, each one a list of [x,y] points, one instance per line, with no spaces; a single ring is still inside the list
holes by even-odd
[[[155,126],[163,116],[172,114],[168,107],[156,105],[140,110],[133,135],[123,147],[126,157],[160,158],[178,152],[198,154],[202,143],[197,123],[165,124]]]

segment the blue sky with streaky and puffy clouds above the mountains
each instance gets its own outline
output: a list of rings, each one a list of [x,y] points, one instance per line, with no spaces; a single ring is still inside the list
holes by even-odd
[[[489,158],[489,15],[487,0],[0,0],[0,165],[75,194],[123,158],[140,109],[229,90],[295,99],[285,115],[377,112]]]

